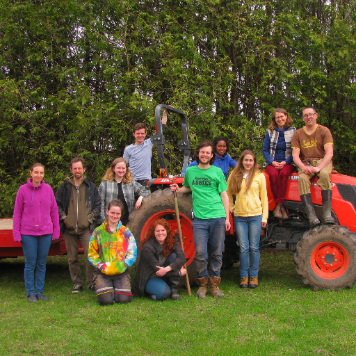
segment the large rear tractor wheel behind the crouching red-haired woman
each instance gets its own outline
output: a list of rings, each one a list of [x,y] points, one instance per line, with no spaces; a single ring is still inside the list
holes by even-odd
[[[179,207],[179,216],[181,220],[181,230],[184,238],[184,247],[191,246],[193,241],[193,230],[188,227],[191,224],[191,209],[192,209],[192,196],[190,193],[181,194],[177,193],[177,201]],[[163,220],[175,220],[175,200],[170,188],[165,188],[163,191],[160,189],[154,191],[148,197],[143,198],[143,203],[140,209],[134,210],[129,216],[129,223],[127,227],[135,236],[137,247],[140,245],[141,238],[147,234],[150,223],[153,223],[157,218]],[[177,242],[179,243],[178,231],[175,231],[177,236]],[[194,243],[194,242],[193,242]],[[136,266],[140,259],[140,248],[138,248],[138,257],[136,260]],[[187,254],[187,250],[185,251]],[[195,261],[191,261],[191,264],[187,266],[188,278],[191,282],[195,282]],[[179,286],[186,286],[186,277],[181,277]]]

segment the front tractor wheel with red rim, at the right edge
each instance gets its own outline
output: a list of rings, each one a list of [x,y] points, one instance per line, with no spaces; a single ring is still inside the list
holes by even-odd
[[[351,288],[356,280],[356,234],[340,225],[318,225],[300,238],[294,263],[302,282],[314,291]]]

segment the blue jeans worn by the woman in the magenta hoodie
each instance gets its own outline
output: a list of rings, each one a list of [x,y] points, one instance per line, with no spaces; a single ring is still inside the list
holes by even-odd
[[[25,257],[25,288],[27,296],[43,292],[46,261],[52,234],[42,236],[21,235]],[[35,292],[36,289],[36,292]]]

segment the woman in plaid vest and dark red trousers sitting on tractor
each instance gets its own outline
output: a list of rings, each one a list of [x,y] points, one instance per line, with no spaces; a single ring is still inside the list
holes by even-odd
[[[284,110],[276,108],[264,138],[263,154],[266,159],[265,168],[270,177],[270,190],[275,200],[273,214],[276,218],[288,218],[284,209],[284,197],[288,186],[288,177],[294,172],[291,141],[296,128],[293,119]]]

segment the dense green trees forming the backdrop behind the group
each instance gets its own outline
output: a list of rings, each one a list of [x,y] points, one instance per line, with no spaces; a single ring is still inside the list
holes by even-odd
[[[224,134],[259,154],[270,113],[314,105],[355,175],[355,0],[0,0],[0,216],[35,161],[54,191],[74,155],[99,184],[154,108],[188,117],[193,146]],[[180,172],[179,119],[165,155]],[[156,157],[152,165],[158,172]]]

